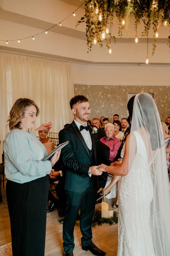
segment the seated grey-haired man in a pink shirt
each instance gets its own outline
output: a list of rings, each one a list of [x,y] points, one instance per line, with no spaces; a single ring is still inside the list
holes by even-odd
[[[110,148],[109,160],[114,162],[117,152],[120,148],[120,140],[114,136],[114,125],[107,123],[105,125],[106,136],[101,138],[100,141]]]

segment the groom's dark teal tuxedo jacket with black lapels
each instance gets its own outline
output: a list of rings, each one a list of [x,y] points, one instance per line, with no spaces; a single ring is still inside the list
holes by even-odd
[[[65,141],[69,141],[69,143],[62,148],[60,156],[65,169],[65,189],[72,192],[84,192],[87,189],[97,190],[97,176],[89,177],[88,175],[89,168],[92,166],[90,153],[74,121],[59,132],[59,143]],[[96,162],[96,146],[92,134],[91,141]]]

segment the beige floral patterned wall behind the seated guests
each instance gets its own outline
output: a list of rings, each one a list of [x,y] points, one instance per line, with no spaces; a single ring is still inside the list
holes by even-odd
[[[112,122],[113,114],[119,119],[127,117],[128,93],[151,93],[159,110],[161,120],[170,116],[170,87],[168,86],[104,86],[74,84],[74,94],[87,96],[91,105],[91,116],[105,116]]]

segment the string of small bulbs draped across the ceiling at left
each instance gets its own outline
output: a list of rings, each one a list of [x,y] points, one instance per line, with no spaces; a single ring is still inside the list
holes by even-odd
[[[84,4],[84,2],[83,2],[77,9],[75,9],[74,12],[71,12],[71,14],[69,14],[69,15],[68,15],[67,17],[65,17],[63,20],[61,20],[60,22],[54,24],[54,25],[51,26],[50,28],[48,28],[48,29],[46,29],[46,30],[43,30],[43,31],[40,32],[40,33],[37,33],[37,34],[35,34],[35,35],[31,35],[31,36],[28,36],[28,37],[25,37],[25,38],[13,39],[13,40],[1,40],[1,39],[0,39],[0,41],[6,42],[6,44],[9,44],[9,42],[12,42],[12,41],[17,41],[18,43],[20,43],[20,41],[25,40],[25,39],[28,39],[28,38],[32,38],[32,40],[34,41],[34,40],[35,40],[35,37],[36,37],[37,35],[40,35],[40,34],[42,34],[42,33],[48,34],[48,31],[49,31],[50,29],[54,28],[55,26],[57,26],[57,25],[58,25],[58,26],[62,26],[62,22],[63,22],[64,20],[66,20],[68,17],[70,17],[71,15],[73,15],[73,16],[75,17],[75,16],[76,16],[76,13],[75,13],[75,12],[76,12],[83,4]]]

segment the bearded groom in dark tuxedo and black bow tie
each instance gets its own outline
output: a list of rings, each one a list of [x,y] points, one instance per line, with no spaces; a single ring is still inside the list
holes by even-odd
[[[80,209],[80,230],[82,250],[94,255],[105,255],[92,242],[91,224],[97,196],[97,175],[102,172],[96,166],[95,142],[87,121],[90,116],[88,99],[83,95],[70,100],[74,121],[59,132],[59,143],[69,141],[62,148],[62,162],[65,169],[66,212],[63,223],[64,256],[73,256],[74,225]]]

